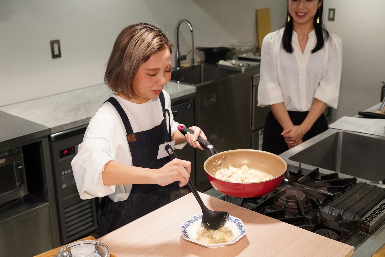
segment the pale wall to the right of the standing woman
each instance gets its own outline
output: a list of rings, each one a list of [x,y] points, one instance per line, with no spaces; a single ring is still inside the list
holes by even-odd
[[[325,0],[325,25],[342,41],[340,98],[334,118],[354,116],[380,102],[385,81],[385,1]],[[335,8],[335,21],[327,20]]]

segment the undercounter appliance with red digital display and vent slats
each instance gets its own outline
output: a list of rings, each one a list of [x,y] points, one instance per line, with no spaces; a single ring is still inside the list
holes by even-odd
[[[99,198],[82,200],[77,191],[71,161],[82,143],[87,125],[50,135],[60,243],[68,244],[96,230]]]

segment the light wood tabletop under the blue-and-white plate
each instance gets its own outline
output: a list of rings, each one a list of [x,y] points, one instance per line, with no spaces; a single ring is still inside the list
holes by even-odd
[[[247,234],[238,242],[209,249],[182,238],[180,224],[201,209],[192,193],[151,212],[99,241],[107,244],[118,257],[350,257],[354,247],[317,235],[302,228],[199,193],[208,208],[226,211],[240,218]]]

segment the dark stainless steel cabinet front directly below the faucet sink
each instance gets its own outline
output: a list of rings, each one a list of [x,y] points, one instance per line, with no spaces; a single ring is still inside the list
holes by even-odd
[[[197,126],[219,152],[250,148],[251,87],[248,77],[198,94]],[[196,183],[207,181],[203,163],[209,157],[196,151]]]

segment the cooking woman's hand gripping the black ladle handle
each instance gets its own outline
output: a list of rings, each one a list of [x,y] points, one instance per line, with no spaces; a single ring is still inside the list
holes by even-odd
[[[154,172],[155,183],[158,185],[166,186],[174,181],[180,181],[179,186],[184,186],[190,178],[191,162],[174,159]]]

